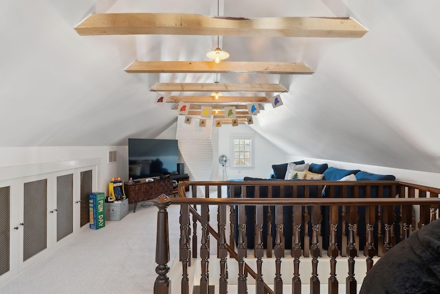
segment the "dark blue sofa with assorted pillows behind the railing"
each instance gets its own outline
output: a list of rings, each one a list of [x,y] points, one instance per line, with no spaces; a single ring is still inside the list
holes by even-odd
[[[297,170],[288,170],[289,168],[292,169],[296,168]],[[307,170],[300,170],[301,168],[307,168]],[[395,181],[395,176],[391,174],[372,174],[369,172],[365,172],[362,170],[345,170],[340,168],[333,168],[329,167],[327,163],[305,163],[305,161],[296,161],[292,163],[281,163],[281,164],[275,164],[272,166],[273,173],[270,175],[270,178],[268,179],[262,179],[262,178],[254,178],[254,177],[245,177],[243,178],[243,181],[286,181],[290,180],[290,176],[292,175],[292,181],[307,181],[308,179],[313,180],[319,180],[322,179],[324,181]],[[322,187],[322,186],[321,186]],[[320,186],[311,186],[309,188],[309,197],[310,198],[316,198],[316,197],[328,197],[329,196],[329,190],[328,188],[321,189]],[[254,197],[254,191],[255,188],[252,185],[245,186],[246,188],[246,197]],[[261,186],[260,188],[260,194],[259,197],[265,198],[267,197],[267,186]],[[272,198],[279,198],[280,195],[280,189],[277,186],[272,187]],[[384,188],[384,194],[388,195],[389,188]],[[292,189],[285,189],[284,197],[296,197],[296,198],[302,198],[305,194],[305,188],[304,186],[298,185],[296,195],[293,195]],[[335,195],[341,194],[341,188],[336,187],[334,189]],[[360,186],[359,188],[359,196],[360,197],[377,197],[377,188],[375,186],[371,187],[370,194],[366,194],[365,186]],[[229,191],[228,191],[229,195]],[[347,197],[350,197],[353,195],[353,188],[349,187],[347,188]],[[234,192],[232,194],[235,198],[240,198],[243,196],[243,193],[241,192],[241,186],[234,186]],[[267,211],[269,207],[263,207],[264,212],[264,220],[263,220],[263,236],[267,235]],[[274,213],[274,207],[270,207],[272,210],[272,213]],[[309,211],[311,209],[309,208]],[[246,214],[246,238],[247,238],[247,246],[248,248],[254,248],[254,213],[255,209],[254,206],[246,205],[245,206],[245,214]],[[303,213],[304,213],[304,207],[303,207]],[[322,206],[321,207],[321,213],[322,213],[322,221],[320,226],[320,234],[323,237],[322,238],[322,247],[327,249],[329,246],[329,207]],[[339,210],[339,214],[341,214],[341,208]],[[362,206],[358,207],[358,236],[359,236],[359,243],[360,243],[360,249],[363,249],[364,243],[365,243],[365,222],[364,222],[364,214],[365,214],[365,208]],[[237,221],[237,215],[235,216]],[[338,244],[341,244],[341,220],[338,225]],[[374,228],[377,230],[377,227]],[[275,224],[272,222],[272,240],[275,240]],[[348,224],[346,227],[346,231],[348,231]],[[283,207],[283,232],[285,237],[285,243],[284,247],[285,249],[292,248],[292,206],[285,206]],[[235,226],[235,236],[237,240],[238,236],[238,229]],[[311,234],[311,224],[309,223],[309,235]],[[301,226],[301,243],[304,244],[304,225]],[[376,234],[375,234],[376,235]],[[377,242],[377,240],[375,240]],[[273,244],[274,245],[274,244]],[[267,247],[266,244],[266,238],[264,238],[263,246]]]

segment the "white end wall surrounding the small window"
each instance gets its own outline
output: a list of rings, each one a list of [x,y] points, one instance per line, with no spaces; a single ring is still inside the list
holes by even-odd
[[[260,177],[268,178],[272,173],[272,164],[284,163],[286,162],[287,154],[272,144],[272,142],[267,141],[264,137],[256,133],[247,124],[240,124],[239,126],[232,126],[229,124],[224,124],[221,128],[218,128],[219,137],[218,144],[219,150],[218,155],[226,155],[229,159],[232,158],[231,153],[231,135],[254,135],[254,167],[253,168],[232,168],[231,166],[226,167],[226,174],[228,179],[236,179],[243,177]],[[218,168],[218,181],[221,181],[223,177],[223,170],[218,161],[218,155],[214,163],[217,164]],[[215,180],[215,179],[214,179]],[[225,178],[226,180],[226,178]]]

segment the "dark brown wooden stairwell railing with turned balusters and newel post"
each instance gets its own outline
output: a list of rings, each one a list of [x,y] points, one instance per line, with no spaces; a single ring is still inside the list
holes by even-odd
[[[192,198],[186,198],[186,187],[192,188]],[[313,185],[320,185],[322,189],[325,185],[329,186],[330,198],[271,198],[270,195],[267,198],[260,198],[257,196],[259,188],[256,188],[254,198],[233,198],[232,192],[235,185],[241,186],[242,191],[245,191],[246,186],[255,187],[270,187],[270,186],[282,186],[280,191],[284,191],[285,187],[295,187],[302,185],[305,187],[311,187]],[[366,188],[367,194],[371,192],[371,187],[377,188],[378,198],[360,198],[359,188],[363,185]],[[209,193],[210,188],[217,188],[217,198],[197,198],[195,197],[197,187],[202,186],[205,188],[206,194]],[[229,186],[230,195],[229,198],[222,198],[221,188]],[[338,186],[342,189],[341,194],[335,194],[335,187]],[[384,198],[383,187],[391,187],[390,195],[388,198]],[[353,198],[347,198],[347,188],[352,187],[354,196]],[[287,188],[286,188],[287,189]],[[268,191],[271,191],[269,189]],[[308,188],[306,188],[308,191]],[[396,193],[398,192],[398,193]],[[228,271],[226,269],[226,260],[228,253],[231,258],[237,260],[239,264],[239,273],[237,276],[237,286],[239,293],[247,293],[247,276],[250,275],[256,280],[256,293],[283,293],[283,280],[281,278],[281,263],[285,254],[284,236],[283,236],[283,207],[292,207],[292,248],[291,255],[293,257],[293,271],[292,271],[292,293],[301,293],[301,280],[299,278],[300,258],[310,254],[312,262],[312,273],[310,278],[311,293],[319,293],[320,280],[318,278],[318,262],[322,251],[320,245],[320,222],[322,215],[320,214],[320,207],[329,207],[329,246],[327,248],[327,255],[330,258],[329,269],[329,293],[338,293],[338,280],[336,278],[336,264],[339,256],[347,256],[349,273],[346,278],[345,284],[347,285],[346,293],[356,293],[357,281],[355,280],[354,267],[355,258],[358,256],[358,238],[357,236],[357,207],[364,206],[365,210],[365,223],[366,223],[366,236],[365,247],[363,248],[364,255],[366,256],[366,268],[367,271],[373,267],[373,258],[378,254],[384,254],[388,251],[396,242],[408,238],[410,231],[415,229],[415,221],[413,218],[412,205],[419,206],[419,228],[423,228],[424,225],[430,223],[430,221],[437,218],[437,211],[439,209],[440,199],[438,197],[440,190],[436,188],[429,188],[421,185],[413,185],[410,183],[394,182],[394,181],[377,181],[377,182],[328,182],[328,181],[310,181],[310,183],[304,183],[304,181],[243,181],[243,182],[181,182],[179,183],[179,195],[180,198],[169,198],[162,194],[153,201],[158,207],[157,213],[157,242],[156,242],[156,273],[157,279],[155,281],[154,293],[164,294],[169,293],[170,280],[168,278],[168,262],[169,258],[169,238],[168,238],[168,215],[167,207],[169,205],[181,206],[181,249],[180,260],[182,264],[182,278],[181,278],[181,293],[190,293],[188,282],[188,267],[190,266],[190,256],[192,244],[192,257],[197,257],[197,234],[192,235],[191,242],[191,227],[190,216],[192,214],[193,230],[197,230],[195,223],[201,224],[201,246],[200,256],[201,258],[201,279],[199,286],[199,293],[209,293],[210,284],[208,271],[209,264],[209,236],[214,237],[217,240],[218,258],[220,263],[220,275],[219,275],[219,293],[227,293],[228,289]],[[245,194],[245,192],[243,193]],[[270,194],[270,193],[269,193]],[[429,197],[427,195],[429,194]],[[345,197],[344,197],[345,195]],[[397,196],[397,198],[395,198]],[[195,207],[201,207],[199,214]],[[209,221],[209,205],[218,205],[217,223],[219,231],[215,231]],[[227,205],[230,205],[230,214],[237,214],[238,223],[234,224],[235,217],[230,215],[231,222],[231,238],[230,244],[226,242],[226,211]],[[256,258],[256,272],[246,264],[245,257],[247,256],[246,237],[245,237],[245,205],[252,205],[256,207],[255,212],[255,248],[254,256]],[[276,270],[274,273],[274,289],[270,289],[269,286],[263,281],[262,278],[262,261],[264,256],[263,249],[263,207],[274,206],[275,210],[270,212],[274,214],[274,218],[267,218],[268,221],[274,220],[276,227],[275,234],[275,246],[273,253],[275,257]],[[303,207],[306,207],[306,214],[303,215]],[[400,207],[396,210],[395,207]],[[338,221],[342,218],[342,221],[347,223],[348,231],[345,230],[345,226],[341,229],[343,236],[342,242],[345,244],[338,246]],[[300,229],[301,226],[305,226],[305,223],[311,223],[311,232],[305,230],[304,234],[311,234],[310,245],[301,244]],[[393,228],[398,223],[401,228],[399,236],[393,235]],[[238,226],[238,236],[234,234],[234,225]],[[377,229],[375,229],[377,228]],[[306,229],[306,228],[304,228]],[[394,228],[395,229],[395,228]],[[377,236],[373,236],[373,231],[377,230]],[[382,231],[384,233],[382,234]],[[327,236],[325,236],[327,238]],[[346,239],[344,241],[344,238]],[[378,240],[375,244],[375,238]],[[235,242],[237,244],[237,251],[234,251]],[[305,242],[306,243],[306,242]],[[272,244],[272,242],[271,242]],[[267,246],[267,257],[272,256],[272,248]],[[342,252],[344,247],[344,252]],[[177,282],[177,281],[175,281]]]

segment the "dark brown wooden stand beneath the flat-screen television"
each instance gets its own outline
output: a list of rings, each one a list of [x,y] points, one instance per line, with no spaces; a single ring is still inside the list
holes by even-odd
[[[132,184],[124,182],[124,192],[129,204],[135,204],[133,212],[136,212],[138,202],[155,199],[160,194],[173,195],[173,179],[140,181]]]

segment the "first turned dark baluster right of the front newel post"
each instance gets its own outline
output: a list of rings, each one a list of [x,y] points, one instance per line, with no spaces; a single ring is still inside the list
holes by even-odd
[[[181,205],[181,265],[182,265],[182,278],[181,278],[181,293],[189,294],[189,279],[188,279],[188,265],[190,260],[190,217],[189,206],[187,204]]]

